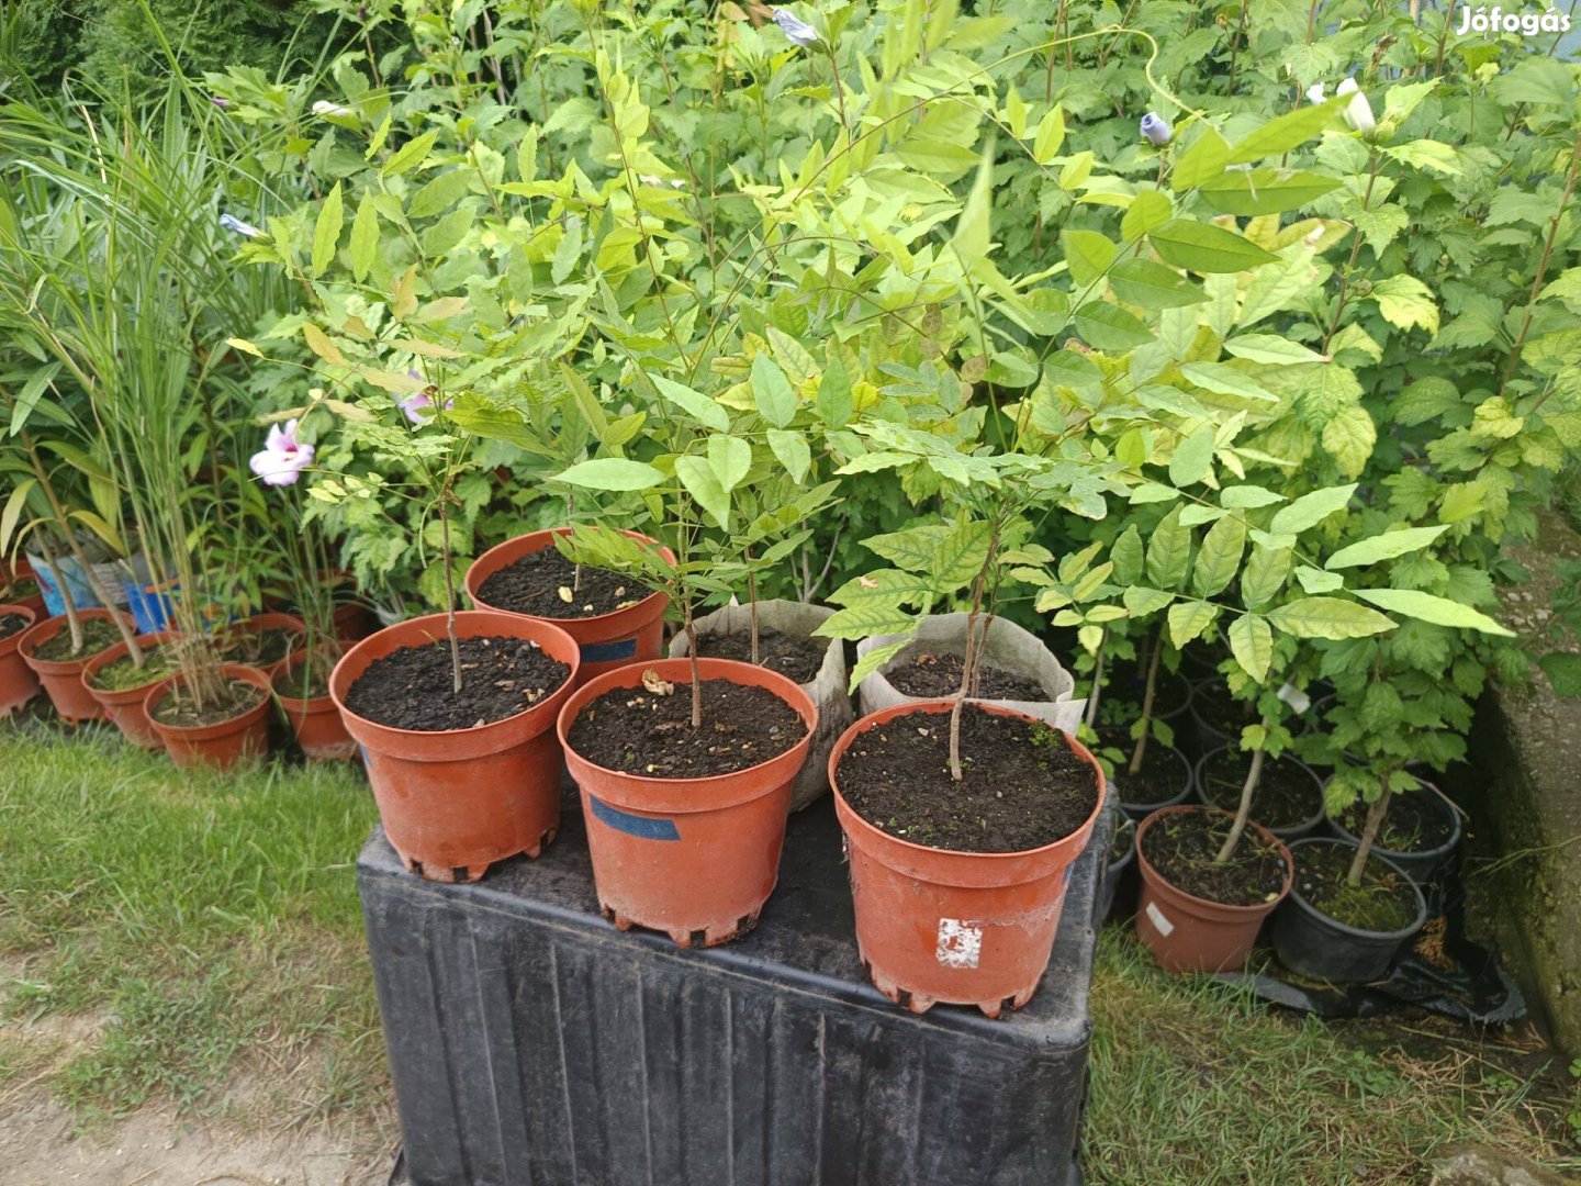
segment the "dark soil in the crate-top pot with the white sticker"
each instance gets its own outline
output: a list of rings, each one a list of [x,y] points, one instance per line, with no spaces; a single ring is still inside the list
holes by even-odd
[[[950,718],[912,713],[857,734],[840,792],[873,827],[958,852],[1024,852],[1064,840],[1097,803],[1097,780],[1047,724],[966,705],[961,781],[950,778]]]

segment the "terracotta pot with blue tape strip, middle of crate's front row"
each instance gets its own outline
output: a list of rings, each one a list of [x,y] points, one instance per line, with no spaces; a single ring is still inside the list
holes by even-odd
[[[779,878],[790,788],[813,734],[817,707],[778,672],[730,659],[697,659],[704,680],[767,688],[806,723],[783,754],[734,775],[645,778],[593,765],[566,740],[588,704],[615,688],[637,688],[647,670],[691,686],[689,659],[656,659],[606,672],[582,685],[560,712],[566,765],[582,791],[593,881],[604,916],[620,930],[651,927],[681,947],[711,947],[749,930]]]

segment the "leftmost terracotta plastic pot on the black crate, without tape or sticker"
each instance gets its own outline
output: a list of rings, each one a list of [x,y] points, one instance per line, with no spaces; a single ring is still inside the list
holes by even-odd
[[[368,636],[329,677],[346,732],[362,746],[384,835],[406,868],[430,881],[477,881],[493,862],[519,852],[536,857],[555,838],[564,764],[553,724],[579,663],[572,637],[538,618],[463,610],[455,634],[536,642],[571,666],[569,678],[526,712],[473,729],[395,729],[346,708],[346,693],[375,659],[443,642],[443,614]]]

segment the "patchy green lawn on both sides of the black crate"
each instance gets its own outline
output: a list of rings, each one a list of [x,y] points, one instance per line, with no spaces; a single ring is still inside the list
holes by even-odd
[[[0,727],[0,1118],[40,1090],[85,1129],[147,1105],[270,1129],[378,1107],[353,876],[373,819],[346,769],[177,772]],[[1162,976],[1118,928],[1092,1006],[1091,1181],[1423,1181],[1466,1140],[1581,1169],[1573,1082],[1524,1029],[1270,1014]]]

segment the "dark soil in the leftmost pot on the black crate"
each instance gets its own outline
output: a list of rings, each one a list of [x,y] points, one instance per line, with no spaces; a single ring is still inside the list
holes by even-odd
[[[346,689],[346,707],[392,729],[476,729],[526,712],[571,677],[571,666],[522,639],[462,639],[462,691],[455,693],[451,644],[402,647]]]

